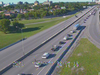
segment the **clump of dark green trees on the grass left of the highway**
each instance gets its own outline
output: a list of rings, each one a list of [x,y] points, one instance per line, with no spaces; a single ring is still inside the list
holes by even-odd
[[[12,26],[10,24],[11,24],[11,21],[9,19],[0,20],[0,31],[7,34],[10,32],[18,32],[24,27],[24,24],[19,23],[16,20],[12,22]]]

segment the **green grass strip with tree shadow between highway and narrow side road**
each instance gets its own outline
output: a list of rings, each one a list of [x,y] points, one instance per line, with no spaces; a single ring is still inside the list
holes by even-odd
[[[78,13],[76,13],[76,14],[78,14]],[[0,32],[0,43],[1,43],[0,49],[18,41],[18,40],[21,40],[24,37],[28,38],[30,36],[33,36],[34,34],[37,34],[45,29],[48,29],[48,28],[62,22],[62,21],[65,21],[65,20],[73,17],[74,15],[71,15],[66,18],[62,18],[60,20],[54,20],[51,22],[26,25],[25,27],[27,27],[27,28],[23,28],[23,33],[21,33],[21,31],[19,33],[9,33],[9,34],[4,34],[3,32]]]

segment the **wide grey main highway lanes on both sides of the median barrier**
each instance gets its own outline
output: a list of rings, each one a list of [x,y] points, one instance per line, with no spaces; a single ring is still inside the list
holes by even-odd
[[[85,11],[86,12],[86,11]],[[84,12],[83,12],[84,13]],[[83,13],[80,13],[78,16],[82,15]],[[85,17],[85,16],[84,16]],[[38,34],[36,34],[35,36],[32,36],[26,40],[24,40],[24,52],[28,52],[29,50],[34,49],[36,46],[38,46],[39,44],[41,44],[43,41],[45,41],[45,39],[48,39],[49,37],[51,37],[52,35],[54,35],[55,33],[57,33],[58,31],[60,31],[62,28],[64,28],[66,25],[69,25],[72,23],[72,21],[74,21],[75,17],[70,18],[67,21],[64,21],[58,25],[55,25],[54,27],[51,27],[43,32],[40,32]],[[84,18],[83,18],[84,19]],[[83,19],[80,19],[77,23],[82,24]],[[33,52],[30,56],[28,56],[26,59],[24,59],[22,62],[25,64],[24,67],[20,67],[20,68],[12,68],[10,69],[8,72],[6,72],[4,75],[17,75],[19,73],[34,73],[34,75],[39,75],[39,73],[41,73],[42,67],[39,69],[36,69],[34,67],[34,65],[32,64],[32,62],[34,61],[34,59],[37,60],[41,60],[41,56],[42,54],[47,51],[49,53],[53,53],[50,49],[52,45],[58,45],[59,40],[62,40],[62,38],[69,33],[69,31],[72,29],[72,26],[69,27],[67,30],[65,30],[63,33],[59,34],[58,36],[56,36],[55,38],[53,38],[52,40],[50,40],[49,42],[47,42],[45,45],[43,45],[41,48],[39,48],[37,51]],[[49,35],[48,35],[49,34]],[[75,37],[75,35],[73,36],[73,38]],[[67,44],[65,45],[69,45],[71,43],[71,40],[69,40],[67,42]],[[62,45],[62,50],[64,50],[63,48],[66,48],[64,45]],[[0,69],[2,69],[4,66],[6,66],[8,63],[13,62],[15,59],[19,58],[20,56],[23,55],[22,52],[22,42],[9,47],[8,49],[5,49],[3,51],[0,52]],[[53,55],[51,56],[55,56],[56,52],[54,52]],[[57,55],[59,55],[59,52],[57,53]],[[57,55],[54,57],[55,59],[57,58]],[[42,61],[54,61],[55,59],[53,59],[53,57],[51,59],[43,59]],[[43,67],[44,68],[44,67]],[[45,70],[44,70],[45,71]],[[41,74],[42,75],[42,74]]]

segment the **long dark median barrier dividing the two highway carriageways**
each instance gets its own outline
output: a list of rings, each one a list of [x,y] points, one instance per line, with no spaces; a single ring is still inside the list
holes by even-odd
[[[92,9],[94,9],[95,7],[93,7]],[[90,9],[89,11],[91,11],[92,9]],[[89,12],[88,11],[88,12]],[[88,12],[86,12],[85,14],[87,14]],[[85,15],[84,14],[84,15]],[[82,15],[80,18],[82,18],[84,15]],[[36,48],[34,48],[33,50],[27,52],[24,56],[21,56],[20,58],[16,59],[15,61],[22,61],[24,58],[26,58],[27,56],[29,56],[30,54],[32,54],[34,51],[36,51],[37,49],[39,49],[41,46],[43,46],[44,44],[46,44],[48,41],[50,41],[51,39],[53,39],[54,37],[56,37],[57,35],[59,35],[60,33],[62,33],[64,30],[66,30],[67,28],[69,28],[71,25],[73,25],[76,21],[78,21],[80,18],[78,18],[77,20],[75,20],[74,22],[72,22],[71,24],[69,24],[69,26],[63,28],[62,30],[60,30],[58,33],[54,34],[53,36],[51,36],[49,39],[45,40],[43,43],[41,43],[39,46],[37,46]],[[13,61],[13,62],[15,62]],[[3,69],[0,70],[0,74],[4,74],[6,71],[8,71],[10,68],[13,67],[13,62],[10,63],[8,66],[4,67]]]

